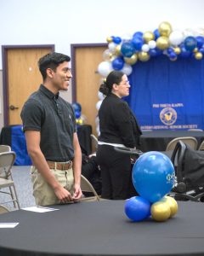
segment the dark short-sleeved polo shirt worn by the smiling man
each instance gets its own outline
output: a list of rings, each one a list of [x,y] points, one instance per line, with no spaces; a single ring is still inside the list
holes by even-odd
[[[46,160],[64,162],[74,158],[73,134],[77,131],[71,104],[42,84],[21,111],[24,131],[40,131],[40,148]]]

